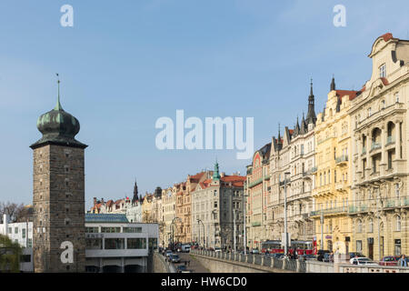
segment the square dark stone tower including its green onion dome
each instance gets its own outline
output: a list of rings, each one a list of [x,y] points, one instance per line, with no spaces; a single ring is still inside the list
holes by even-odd
[[[33,262],[36,273],[85,272],[86,145],[78,120],[55,108],[37,120],[43,137],[30,146],[33,170]]]

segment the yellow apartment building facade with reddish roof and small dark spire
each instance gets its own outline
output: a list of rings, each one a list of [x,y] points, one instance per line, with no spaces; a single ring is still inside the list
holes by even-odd
[[[351,117],[356,91],[336,90],[334,78],[323,113],[315,126],[315,187],[313,190],[317,249],[341,254],[351,250]]]

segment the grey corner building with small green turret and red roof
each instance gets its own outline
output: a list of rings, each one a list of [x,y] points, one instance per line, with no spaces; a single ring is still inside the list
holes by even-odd
[[[192,193],[192,239],[200,246],[244,246],[244,176],[208,171]],[[235,226],[235,229],[234,229]]]

